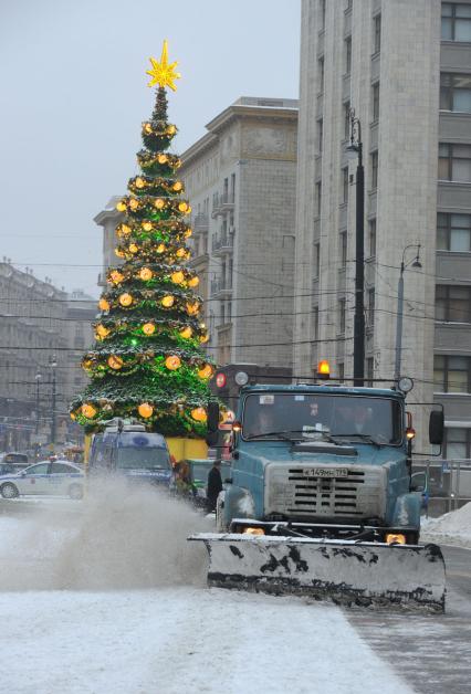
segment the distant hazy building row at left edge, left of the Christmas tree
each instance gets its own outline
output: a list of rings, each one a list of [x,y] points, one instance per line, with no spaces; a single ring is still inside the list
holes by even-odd
[[[75,297],[51,281],[0,263],[0,450],[27,450],[51,442],[55,391],[55,442],[70,433],[67,406],[78,387],[80,358],[72,351],[91,343],[86,319],[77,323]],[[72,299],[70,303],[69,299]],[[93,302],[95,305],[95,302]],[[77,360],[77,362],[76,362]],[[80,387],[84,383],[80,377]]]

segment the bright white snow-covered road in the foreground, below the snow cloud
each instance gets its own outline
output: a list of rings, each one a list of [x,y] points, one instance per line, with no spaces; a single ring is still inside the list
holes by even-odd
[[[218,589],[2,593],[9,694],[402,694],[335,607]]]

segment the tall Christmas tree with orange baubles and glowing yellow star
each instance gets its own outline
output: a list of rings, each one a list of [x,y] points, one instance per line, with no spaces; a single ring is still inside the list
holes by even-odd
[[[92,381],[71,407],[88,430],[115,418],[135,418],[165,435],[206,432],[208,380],[213,366],[201,349],[208,333],[199,320],[199,278],[186,263],[191,208],[182,199],[177,155],[168,151],[177,127],[167,119],[166,87],[175,91],[177,63],[150,59],[148,86],[158,85],[150,120],[143,124],[142,174],[117,203],[115,253],[124,264],[107,272],[100,299],[96,344],[82,361]]]

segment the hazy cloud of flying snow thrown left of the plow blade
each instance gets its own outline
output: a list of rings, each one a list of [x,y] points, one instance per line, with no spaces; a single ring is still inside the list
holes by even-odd
[[[154,487],[95,482],[82,503],[0,519],[0,590],[203,586],[206,551],[186,538],[210,527]]]

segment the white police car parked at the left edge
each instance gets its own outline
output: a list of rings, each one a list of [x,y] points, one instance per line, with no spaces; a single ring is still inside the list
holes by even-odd
[[[69,461],[42,461],[14,474],[0,476],[0,494],[15,498],[23,494],[70,496],[82,498],[85,483],[83,471]]]

